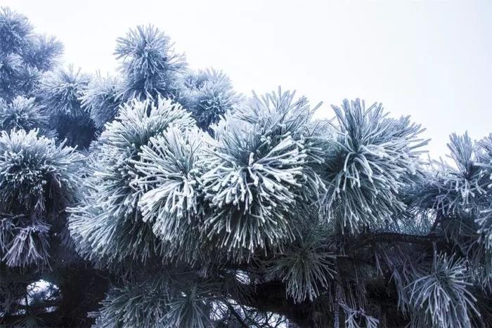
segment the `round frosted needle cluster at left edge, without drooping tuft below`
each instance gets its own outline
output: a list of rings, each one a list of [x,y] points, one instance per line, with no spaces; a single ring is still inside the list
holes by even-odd
[[[0,195],[4,211],[64,209],[76,197],[77,174],[83,157],[71,147],[56,145],[37,131],[2,131],[0,137]],[[47,202],[51,202],[46,206]],[[19,206],[19,208],[18,208]]]

